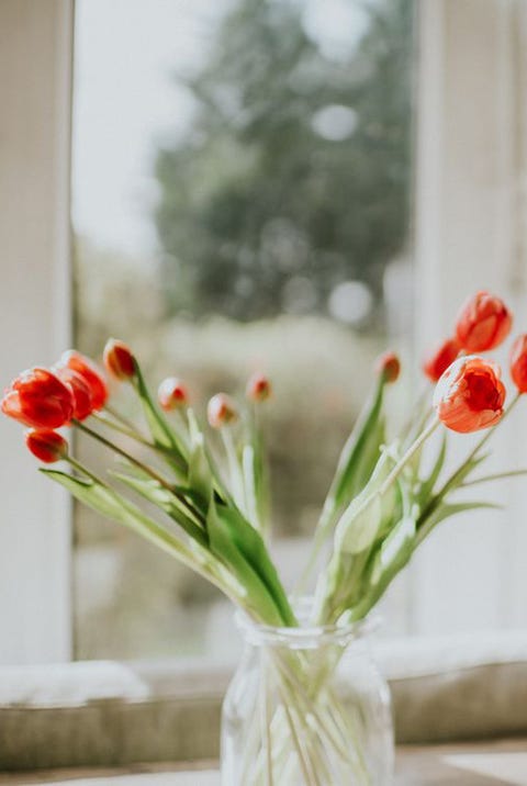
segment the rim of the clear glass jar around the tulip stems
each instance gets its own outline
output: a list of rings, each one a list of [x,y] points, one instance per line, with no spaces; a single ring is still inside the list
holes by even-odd
[[[302,620],[309,619],[313,598],[311,596],[296,598],[293,607],[301,622],[298,627],[265,625],[254,620],[240,609],[235,614],[236,625],[245,641],[250,644],[307,650],[330,644],[344,647],[354,640],[365,639],[374,632],[381,622],[378,615],[369,615],[365,619],[340,625],[302,625]]]

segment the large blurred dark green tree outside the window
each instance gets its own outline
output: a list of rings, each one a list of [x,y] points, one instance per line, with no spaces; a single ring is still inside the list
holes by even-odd
[[[382,315],[408,224],[413,2],[363,3],[367,30],[337,59],[303,9],[240,0],[186,80],[194,121],[156,161],[169,313],[324,314],[359,280]]]

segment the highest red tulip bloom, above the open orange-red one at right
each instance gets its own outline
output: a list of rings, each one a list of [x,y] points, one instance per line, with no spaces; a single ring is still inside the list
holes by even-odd
[[[466,302],[456,323],[456,335],[468,352],[486,352],[500,346],[513,325],[505,303],[489,292],[478,292]]]

